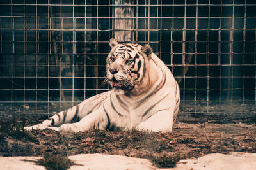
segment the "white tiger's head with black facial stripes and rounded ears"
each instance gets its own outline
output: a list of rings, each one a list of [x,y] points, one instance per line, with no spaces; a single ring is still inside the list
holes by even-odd
[[[107,57],[106,78],[113,90],[131,92],[140,86],[141,81],[145,81],[143,78],[147,73],[152,48],[150,45],[120,44],[113,38],[109,46],[112,49]]]

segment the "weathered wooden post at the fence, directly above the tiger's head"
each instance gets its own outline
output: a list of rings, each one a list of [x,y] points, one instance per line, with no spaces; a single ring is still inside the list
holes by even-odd
[[[116,41],[132,41],[132,29],[134,27],[134,8],[131,6],[133,0],[114,1],[114,38]],[[118,6],[120,5],[120,6]]]

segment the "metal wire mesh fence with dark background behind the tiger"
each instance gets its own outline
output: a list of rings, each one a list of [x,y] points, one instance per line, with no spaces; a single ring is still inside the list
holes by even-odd
[[[0,8],[4,117],[49,116],[109,90],[108,41],[118,31],[149,43],[171,69],[180,121],[255,117],[255,1],[4,0]],[[116,29],[120,18],[131,27]]]

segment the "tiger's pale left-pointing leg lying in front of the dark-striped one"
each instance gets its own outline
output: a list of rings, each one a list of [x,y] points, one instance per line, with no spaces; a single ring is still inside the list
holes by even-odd
[[[86,115],[86,117],[82,118],[79,122],[63,124],[60,127],[54,127],[52,129],[64,132],[81,132],[89,129],[103,130],[106,129],[109,124],[109,117],[104,111],[103,104],[101,104],[99,109],[93,111],[89,115]]]

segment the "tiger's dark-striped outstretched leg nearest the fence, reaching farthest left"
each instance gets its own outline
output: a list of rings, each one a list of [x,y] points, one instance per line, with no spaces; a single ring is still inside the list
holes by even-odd
[[[97,110],[108,97],[108,95],[109,92],[104,92],[96,96],[90,97],[89,99],[86,99],[77,106],[74,106],[65,111],[61,111],[60,113],[56,113],[47,120],[44,120],[44,122],[42,122],[41,124],[24,127],[24,129],[45,129],[48,127],[60,127],[60,125],[63,124],[78,122],[86,115],[92,113],[92,111]],[[57,130],[56,128],[51,129]]]

